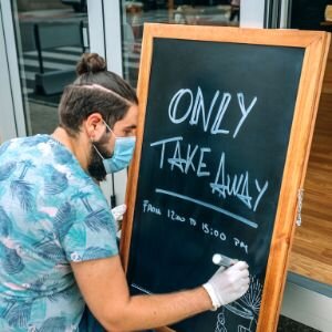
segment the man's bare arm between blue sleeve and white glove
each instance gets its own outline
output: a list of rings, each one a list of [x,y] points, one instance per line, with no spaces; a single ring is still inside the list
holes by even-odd
[[[212,308],[203,287],[169,294],[131,297],[118,256],[71,264],[90,310],[110,331],[163,326]]]

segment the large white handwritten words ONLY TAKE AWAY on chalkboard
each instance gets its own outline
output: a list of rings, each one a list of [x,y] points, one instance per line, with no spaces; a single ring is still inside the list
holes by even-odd
[[[185,121],[188,121],[189,125],[198,126],[201,124],[203,131],[212,135],[229,134],[230,129],[221,128],[221,124],[225,121],[225,113],[230,110],[228,107],[231,98],[230,93],[224,92],[220,96],[220,91],[217,90],[207,107],[207,101],[200,86],[197,87],[196,95],[190,89],[180,89],[170,98],[168,117],[174,124],[180,124]],[[251,114],[257,100],[257,96],[253,96],[246,106],[243,93],[237,93],[237,106],[240,116],[234,128],[232,138],[236,138],[249,114]],[[234,111],[234,108],[231,110]],[[183,136],[159,139],[151,143],[151,146],[160,148],[160,169],[168,165],[172,172],[178,170],[184,175],[194,174],[197,177],[211,177],[209,186],[212,195],[218,195],[222,199],[236,197],[250,210],[257,210],[268,190],[269,181],[252,178],[248,170],[239,174],[227,172],[225,152],[219,155],[218,168],[212,169],[209,162],[215,160],[216,155],[209,146],[186,144]],[[176,193],[173,196],[176,196]],[[195,199],[188,200],[196,203]],[[204,205],[201,201],[199,204]],[[236,216],[236,219],[239,219],[238,217]]]

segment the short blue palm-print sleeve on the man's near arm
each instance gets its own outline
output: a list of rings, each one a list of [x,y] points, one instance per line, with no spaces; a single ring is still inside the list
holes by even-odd
[[[66,259],[79,262],[117,255],[115,220],[100,188],[89,186],[74,196],[70,228],[61,243]]]

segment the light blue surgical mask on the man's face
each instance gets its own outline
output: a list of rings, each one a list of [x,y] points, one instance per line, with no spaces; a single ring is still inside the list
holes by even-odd
[[[115,136],[115,134],[106,123],[105,126]],[[135,136],[128,136],[128,137],[115,136],[115,145],[111,158],[104,158],[102,154],[97,151],[97,148],[94,146],[94,148],[103,159],[103,165],[107,174],[122,170],[129,165],[133,158],[135,143],[136,143]]]

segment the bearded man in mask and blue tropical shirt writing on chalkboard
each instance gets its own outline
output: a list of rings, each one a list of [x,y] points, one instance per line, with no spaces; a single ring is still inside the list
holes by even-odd
[[[129,295],[95,179],[128,165],[138,101],[97,54],[77,72],[51,136],[0,147],[0,331],[79,331],[85,303],[106,330],[152,329],[245,294],[248,266],[238,262],[193,290]]]

